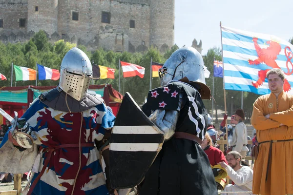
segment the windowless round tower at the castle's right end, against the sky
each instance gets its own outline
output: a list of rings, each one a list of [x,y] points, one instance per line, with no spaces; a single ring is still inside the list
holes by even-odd
[[[150,45],[174,45],[175,0],[150,0]],[[163,47],[164,47],[163,46]]]

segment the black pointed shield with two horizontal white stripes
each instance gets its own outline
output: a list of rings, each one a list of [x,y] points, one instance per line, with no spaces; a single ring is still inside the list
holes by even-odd
[[[111,187],[124,189],[140,184],[163,142],[163,132],[126,93],[109,144]]]

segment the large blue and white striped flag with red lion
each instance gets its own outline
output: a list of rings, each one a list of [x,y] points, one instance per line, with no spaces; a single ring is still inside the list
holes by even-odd
[[[225,89],[271,93],[266,74],[285,73],[284,91],[293,94],[293,45],[278,37],[222,26]]]

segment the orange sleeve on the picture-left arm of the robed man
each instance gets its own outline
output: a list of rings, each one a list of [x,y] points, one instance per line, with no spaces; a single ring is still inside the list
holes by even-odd
[[[279,127],[280,122],[276,122],[264,116],[262,105],[262,97],[257,98],[253,104],[253,111],[251,116],[251,124],[253,127],[257,130],[267,130]]]

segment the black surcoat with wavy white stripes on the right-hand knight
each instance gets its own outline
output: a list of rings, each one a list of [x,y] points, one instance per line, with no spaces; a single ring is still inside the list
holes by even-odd
[[[185,103],[180,110],[176,131],[202,139],[206,133],[208,114],[198,91],[183,82],[171,82],[166,86],[169,89],[177,87],[183,93]],[[147,108],[153,103],[158,102],[147,99],[143,106],[145,114],[149,114]],[[163,144],[138,190],[139,195],[217,195],[209,159],[201,146],[194,141],[174,137]]]

